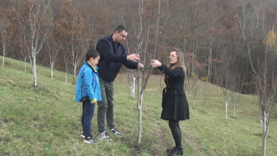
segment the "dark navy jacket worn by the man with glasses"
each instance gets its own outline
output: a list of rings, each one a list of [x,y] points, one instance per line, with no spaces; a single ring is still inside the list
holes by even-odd
[[[138,63],[127,60],[125,46],[113,42],[112,35],[102,37],[96,45],[96,50],[100,53],[100,60],[97,65],[99,78],[105,82],[114,81],[122,64],[130,69],[137,68]]]

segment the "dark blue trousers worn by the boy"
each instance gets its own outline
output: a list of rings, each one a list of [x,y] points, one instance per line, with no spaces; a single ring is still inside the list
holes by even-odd
[[[85,137],[91,137],[91,119],[94,115],[95,103],[91,104],[90,100],[83,101],[83,114],[81,118],[83,133]]]

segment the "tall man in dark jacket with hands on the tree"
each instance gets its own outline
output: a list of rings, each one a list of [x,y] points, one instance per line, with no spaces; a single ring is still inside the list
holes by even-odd
[[[99,101],[97,110],[97,123],[100,140],[111,140],[110,135],[106,131],[105,121],[107,121],[108,129],[116,136],[123,138],[123,135],[117,130],[113,118],[113,81],[119,72],[122,64],[130,69],[137,67],[143,68],[143,64],[139,63],[140,56],[138,54],[126,54],[125,41],[128,31],[124,26],[119,25],[111,36],[101,38],[96,46],[96,50],[100,53],[99,60],[99,80],[102,101]]]

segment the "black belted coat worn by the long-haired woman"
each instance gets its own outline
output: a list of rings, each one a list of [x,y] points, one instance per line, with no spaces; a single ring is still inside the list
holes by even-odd
[[[165,73],[166,88],[163,90],[163,111],[161,119],[185,120],[189,119],[189,105],[184,91],[185,73],[182,67],[171,70],[162,64],[158,67]]]

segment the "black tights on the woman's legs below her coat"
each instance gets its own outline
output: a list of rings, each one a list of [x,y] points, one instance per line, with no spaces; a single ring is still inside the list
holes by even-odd
[[[176,148],[177,149],[182,148],[182,133],[179,126],[179,120],[178,121],[169,120],[169,127],[172,132],[172,135],[176,144]]]

